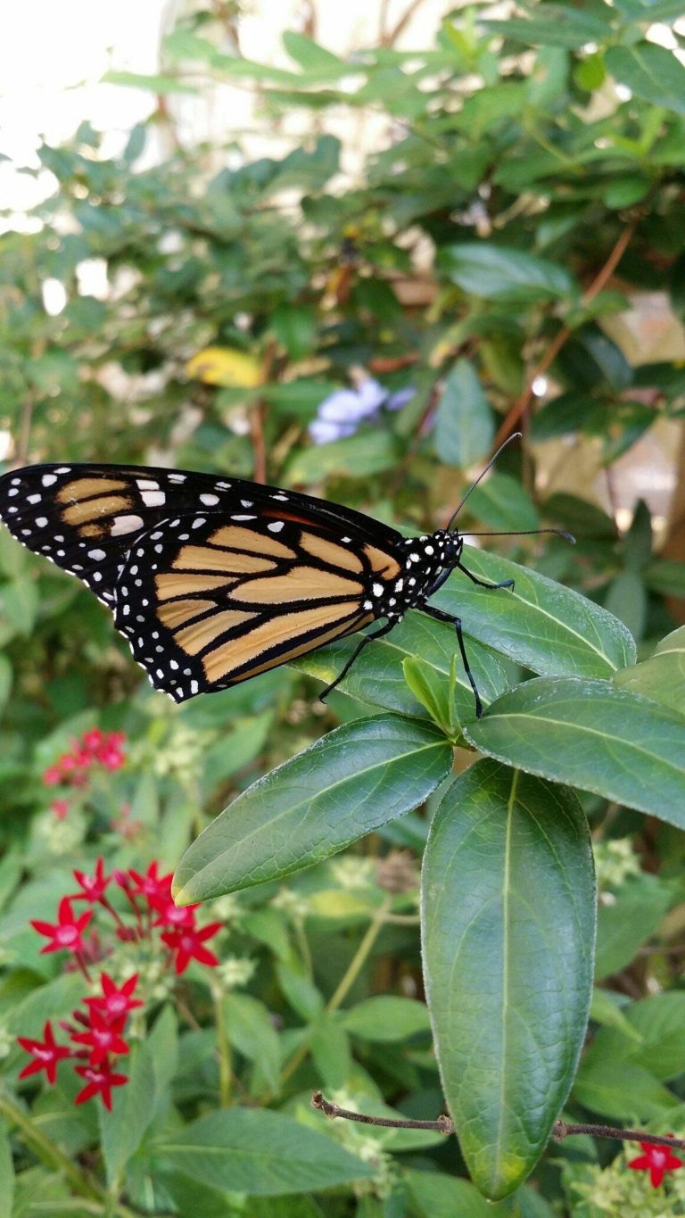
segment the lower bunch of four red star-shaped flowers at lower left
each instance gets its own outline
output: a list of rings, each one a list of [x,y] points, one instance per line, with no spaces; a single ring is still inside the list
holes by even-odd
[[[47,1082],[54,1084],[58,1063],[71,1058],[75,1073],[84,1079],[84,1086],[74,1104],[85,1104],[101,1095],[105,1107],[111,1110],[112,1088],[128,1083],[128,1075],[114,1069],[114,1058],[128,1054],[129,1045],[123,1038],[127,1018],[129,1011],[142,1006],[141,1000],[133,996],[136,984],[137,974],[117,987],[107,973],[101,973],[101,993],[83,1000],[85,1011],[73,1011],[72,1023],[60,1021],[60,1027],[69,1034],[71,1045],[57,1044],[50,1019],[45,1022],[43,1040],[18,1037],[22,1049],[33,1057],[21,1071],[19,1078],[28,1078],[44,1069]]]

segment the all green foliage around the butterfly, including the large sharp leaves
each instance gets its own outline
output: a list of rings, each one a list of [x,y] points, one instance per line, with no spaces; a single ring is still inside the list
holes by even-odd
[[[18,460],[251,477],[265,453],[269,481],[425,533],[523,408],[524,443],[459,529],[577,535],[465,547],[473,576],[515,587],[455,572],[436,596],[462,619],[479,720],[453,628],[416,613],[330,709],[319,682],[354,639],[179,710],[94,598],[0,536],[2,1213],[656,1212],[613,1144],[544,1152],[565,1105],[683,1132],[685,564],[655,551],[645,504],[627,530],[595,482],[683,419],[681,362],[640,364],[612,324],[640,291],[683,317],[685,69],[651,35],[681,4],[488,11],[453,13],[428,48],[347,58],[290,30],[279,68],[186,17],[158,76],[108,74],[164,99],[156,116],[117,156],[86,122],[44,144],[55,192],[35,231],[0,238]],[[213,175],[204,149],[146,168],[153,124],[217,80],[259,91],[263,130],[297,111],[297,146],[256,158],[231,136]],[[355,150],[352,181],[350,150],[321,133],[330,111],[341,130],[369,110],[389,134]],[[412,393],[314,445],[320,403],[360,368]],[[46,789],[96,723],[127,733],[125,766]],[[178,868],[179,901],[224,926],[220,966],[176,985],[125,937],[91,965],[140,972],[147,999],[111,1113],[74,1106],[64,1063],[56,1088],[17,1079],[16,1037],[84,995],[29,920],[54,921],[97,856]],[[433,1130],[325,1122],[316,1088],[382,1118],[447,1105],[462,1158]]]

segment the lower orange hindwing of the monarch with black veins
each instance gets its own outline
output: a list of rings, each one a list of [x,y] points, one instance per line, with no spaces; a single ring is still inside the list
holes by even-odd
[[[359,630],[370,561],[294,521],[197,518],[139,538],[114,621],[153,686],[178,702],[245,681]],[[276,532],[270,526],[280,524]]]

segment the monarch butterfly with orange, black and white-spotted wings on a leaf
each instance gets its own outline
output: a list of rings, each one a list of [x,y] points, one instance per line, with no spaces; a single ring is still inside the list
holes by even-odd
[[[427,602],[454,568],[482,587],[512,581],[490,585],[472,575],[453,521],[408,540],[360,512],[294,491],[183,470],[80,464],[5,474],[0,519],[95,592],[155,688],[179,703],[384,619],[361,637],[325,697],[363,647],[408,609],[420,609],[454,625],[482,714],[461,621]]]

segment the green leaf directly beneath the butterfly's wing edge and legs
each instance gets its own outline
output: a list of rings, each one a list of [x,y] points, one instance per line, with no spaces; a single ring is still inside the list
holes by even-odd
[[[304,655],[294,666],[330,685],[344,667],[358,642],[359,636],[341,639],[319,652]],[[456,633],[453,626],[432,621],[421,613],[409,613],[386,638],[369,643],[364,648],[338,688],[372,706],[425,719],[426,710],[404,680],[403,661],[420,657],[432,667],[436,680],[447,687],[450,664],[456,652]],[[507,681],[496,655],[478,643],[470,642],[468,663],[485,705],[505,692]],[[473,693],[461,659],[457,660],[455,676],[451,709],[454,717],[462,722],[473,717]]]

